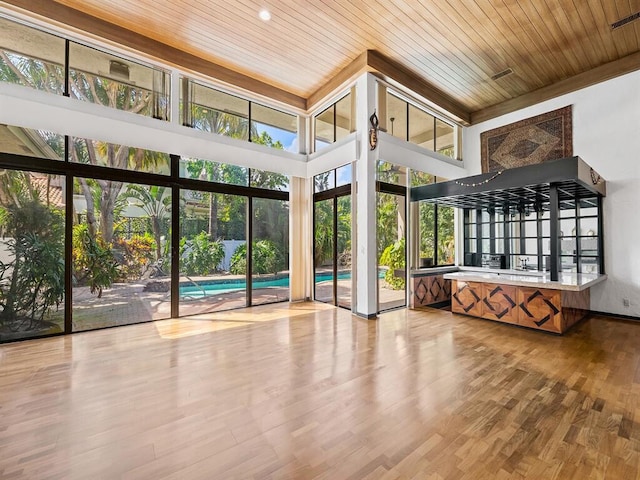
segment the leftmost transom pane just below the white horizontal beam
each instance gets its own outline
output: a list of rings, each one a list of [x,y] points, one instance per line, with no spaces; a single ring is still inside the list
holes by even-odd
[[[63,160],[64,136],[44,130],[0,124],[0,152]]]

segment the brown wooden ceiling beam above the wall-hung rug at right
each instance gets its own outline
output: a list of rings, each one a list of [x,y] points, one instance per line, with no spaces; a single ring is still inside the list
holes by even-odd
[[[619,77],[640,69],[640,52],[614,60],[599,67],[579,73],[530,93],[492,105],[471,114],[471,123],[476,124],[492,118],[530,107],[545,100],[566,95],[582,88],[590,87],[606,80]]]

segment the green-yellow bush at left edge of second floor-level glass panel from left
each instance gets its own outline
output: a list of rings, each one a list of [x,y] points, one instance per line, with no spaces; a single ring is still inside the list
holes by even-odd
[[[73,227],[73,270],[78,284],[89,285],[98,298],[119,276],[111,248],[101,238],[95,239],[86,224]]]

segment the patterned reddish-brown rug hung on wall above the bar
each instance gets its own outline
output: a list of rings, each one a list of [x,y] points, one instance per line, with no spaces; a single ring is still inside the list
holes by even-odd
[[[480,134],[482,173],[571,157],[571,105]]]

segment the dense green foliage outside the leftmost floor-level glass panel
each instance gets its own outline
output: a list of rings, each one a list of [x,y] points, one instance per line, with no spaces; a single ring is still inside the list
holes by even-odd
[[[0,322],[42,320],[64,298],[64,216],[37,199],[0,215],[9,262],[0,261]]]

